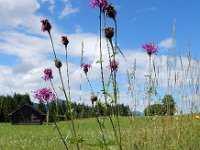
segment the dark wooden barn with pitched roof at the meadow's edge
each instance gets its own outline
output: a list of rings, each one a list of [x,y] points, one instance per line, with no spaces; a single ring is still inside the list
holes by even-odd
[[[42,124],[45,114],[26,103],[10,114],[12,124]]]

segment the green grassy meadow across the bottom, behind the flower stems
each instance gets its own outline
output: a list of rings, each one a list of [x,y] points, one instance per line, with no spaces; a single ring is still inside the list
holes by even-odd
[[[61,132],[71,137],[70,122],[59,122]],[[123,117],[120,118],[123,149],[200,149],[200,120],[195,116],[174,117]],[[95,118],[75,121],[79,138],[83,138],[81,149],[101,149],[99,126]],[[117,149],[109,119],[105,119],[105,136],[110,143],[108,149]],[[67,140],[67,138],[66,138]],[[69,143],[69,142],[68,142]],[[70,143],[70,149],[75,145]],[[54,125],[0,124],[0,149],[62,150],[65,149]]]

